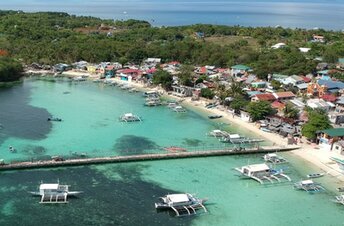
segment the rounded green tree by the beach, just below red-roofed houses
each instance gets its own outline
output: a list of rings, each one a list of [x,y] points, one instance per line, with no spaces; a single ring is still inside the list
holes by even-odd
[[[268,101],[258,101],[250,102],[247,106],[247,112],[253,121],[257,121],[274,114],[275,110]]]

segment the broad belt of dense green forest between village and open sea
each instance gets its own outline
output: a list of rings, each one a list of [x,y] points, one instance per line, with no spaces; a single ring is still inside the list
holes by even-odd
[[[203,32],[205,38],[197,38],[195,32]],[[324,35],[327,44],[310,43],[313,34]],[[214,37],[229,42],[207,39]],[[276,50],[270,48],[278,42],[288,46]],[[305,55],[298,47],[312,50]],[[163,61],[178,60],[192,65],[228,67],[247,64],[259,77],[265,78],[268,73],[309,73],[316,65],[313,59],[318,56],[323,56],[329,63],[337,61],[338,57],[344,56],[344,35],[321,29],[220,25],[157,28],[137,20],[0,11],[0,48],[27,64],[79,60],[126,63],[160,57]],[[181,79],[189,82],[185,77]]]

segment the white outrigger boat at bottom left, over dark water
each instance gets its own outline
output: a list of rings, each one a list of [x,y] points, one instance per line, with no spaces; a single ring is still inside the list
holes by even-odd
[[[68,203],[68,196],[75,196],[82,191],[69,191],[69,185],[41,184],[39,191],[30,192],[32,195],[41,196],[40,203]]]

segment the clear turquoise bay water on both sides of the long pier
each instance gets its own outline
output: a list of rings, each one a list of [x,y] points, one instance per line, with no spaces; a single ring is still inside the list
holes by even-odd
[[[18,87],[2,90],[1,103],[5,103],[1,99],[5,96],[25,100],[17,103],[13,99],[6,108],[0,106],[0,123],[4,126],[0,130],[0,158],[5,160],[68,157],[74,151],[90,156],[163,152],[160,147],[171,145],[194,150],[219,147],[216,139],[205,135],[215,128],[245,134],[191,110],[183,115],[166,107],[144,107],[141,94],[102,84],[29,79]],[[15,124],[15,109],[23,111],[21,120],[28,119],[31,127]],[[24,110],[40,117],[25,114]],[[6,114],[8,111],[11,114]],[[138,114],[144,120],[118,122],[118,116],[125,112]],[[49,125],[49,114],[63,121],[40,125]],[[11,126],[20,130],[11,130]],[[29,136],[32,132],[36,133]],[[9,152],[9,145],[17,152]],[[292,155],[284,156],[291,163],[279,167],[294,181],[314,172]],[[344,206],[330,201],[335,195],[330,188],[307,194],[295,191],[291,183],[259,185],[239,178],[233,170],[261,161],[258,155],[224,156],[0,172],[0,225],[36,225],[40,221],[46,225],[343,225]],[[39,198],[27,194],[40,181],[58,179],[84,194],[70,199],[67,205],[41,205]],[[318,181],[326,185],[332,179]],[[186,218],[157,213],[157,198],[174,192],[209,198],[209,212]]]

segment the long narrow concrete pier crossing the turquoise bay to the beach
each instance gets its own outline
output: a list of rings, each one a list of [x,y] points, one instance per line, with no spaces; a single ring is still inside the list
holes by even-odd
[[[288,145],[288,146],[283,146],[283,147],[262,146],[259,148],[248,148],[244,150],[226,149],[226,150],[208,150],[208,151],[193,151],[193,152],[163,153],[163,154],[142,154],[142,155],[128,155],[128,156],[81,158],[81,159],[68,159],[68,160],[63,160],[63,161],[45,160],[45,161],[35,161],[35,162],[16,162],[16,163],[10,163],[10,164],[2,164],[0,165],[0,170],[66,167],[66,166],[80,166],[80,165],[91,165],[91,164],[138,162],[138,161],[197,158],[197,157],[211,157],[211,156],[224,156],[224,155],[244,155],[244,154],[291,151],[298,148],[300,147],[296,145]]]

